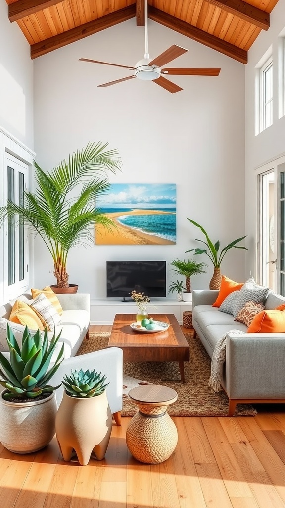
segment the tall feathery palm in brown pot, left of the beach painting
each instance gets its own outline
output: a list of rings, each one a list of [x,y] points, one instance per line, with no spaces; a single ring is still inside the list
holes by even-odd
[[[44,240],[53,259],[57,284],[53,290],[60,293],[75,292],[76,284],[68,284],[66,270],[69,249],[92,241],[96,223],[110,229],[114,223],[95,208],[95,200],[108,193],[111,184],[103,175],[116,173],[121,163],[117,150],[106,150],[108,143],[88,143],[60,162],[49,173],[34,161],[34,193],[25,192],[23,204],[12,201],[0,209],[0,220],[6,217],[18,219],[34,234]],[[78,190],[78,192],[76,192]],[[76,197],[75,197],[76,196]],[[57,291],[57,288],[59,289]]]

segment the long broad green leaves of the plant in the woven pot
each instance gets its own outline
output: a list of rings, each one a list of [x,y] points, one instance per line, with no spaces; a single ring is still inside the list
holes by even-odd
[[[206,241],[199,240],[198,238],[195,238],[195,240],[197,240],[197,242],[204,243],[204,245],[206,245],[206,248],[197,247],[195,249],[186,250],[186,252],[191,252],[191,251],[195,250],[194,256],[205,253],[206,256],[208,256],[209,260],[212,262],[214,268],[220,268],[226,252],[229,249],[231,249],[232,247],[234,247],[236,249],[248,250],[247,247],[244,247],[242,245],[236,245],[237,243],[241,242],[244,238],[246,238],[247,235],[237,238],[236,240],[233,240],[232,242],[230,242],[228,245],[226,245],[225,247],[223,247],[220,250],[220,240],[218,240],[216,243],[213,243],[210,240],[207,232],[204,230],[204,228],[200,224],[196,223],[195,220],[189,219],[188,217],[187,217],[187,220],[189,220],[192,224],[194,224],[194,226],[197,226],[197,228],[199,228],[202,231],[202,233],[205,235]],[[220,252],[219,252],[219,250],[220,250]]]

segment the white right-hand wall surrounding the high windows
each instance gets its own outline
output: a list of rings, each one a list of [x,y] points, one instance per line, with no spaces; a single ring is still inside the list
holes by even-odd
[[[250,253],[245,274],[256,274],[257,168],[285,152],[285,116],[278,118],[278,36],[285,27],[285,3],[278,2],[270,14],[270,28],[262,31],[248,52],[245,68],[245,231],[250,236]],[[273,56],[273,124],[255,135],[256,66],[272,45]]]

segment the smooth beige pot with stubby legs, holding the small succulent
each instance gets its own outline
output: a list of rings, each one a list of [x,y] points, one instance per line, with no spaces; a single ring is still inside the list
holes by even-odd
[[[61,455],[69,461],[75,450],[79,463],[88,464],[93,452],[102,460],[112,430],[112,412],[106,392],[97,397],[70,397],[66,392],[57,411],[55,432]]]

